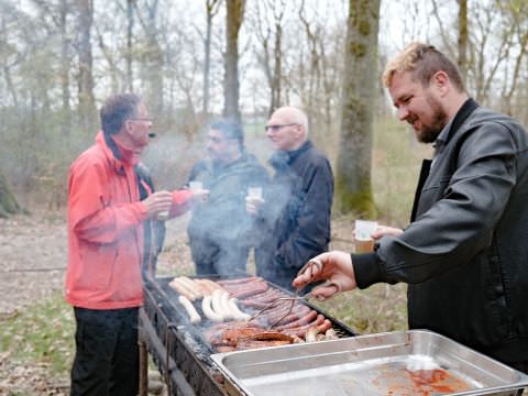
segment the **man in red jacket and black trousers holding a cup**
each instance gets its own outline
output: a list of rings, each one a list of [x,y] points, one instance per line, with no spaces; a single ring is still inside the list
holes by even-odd
[[[140,97],[110,97],[102,131],[69,173],[66,300],[77,330],[72,395],[136,395],[138,310],[143,302],[143,223],[185,212],[191,193],[140,198],[135,165],[152,121]]]

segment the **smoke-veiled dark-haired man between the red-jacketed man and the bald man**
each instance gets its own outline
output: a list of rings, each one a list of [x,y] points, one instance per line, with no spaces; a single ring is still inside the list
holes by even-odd
[[[254,219],[245,211],[252,186],[267,184],[266,169],[244,147],[242,125],[234,121],[211,123],[206,139],[207,157],[193,167],[188,184],[201,182],[207,201],[193,208],[187,228],[198,275],[232,276],[246,273],[254,244]]]

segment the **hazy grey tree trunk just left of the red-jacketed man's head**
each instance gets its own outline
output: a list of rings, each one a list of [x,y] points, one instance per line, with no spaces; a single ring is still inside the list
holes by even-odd
[[[91,133],[96,119],[91,55],[94,1],[79,0],[79,116],[82,132]]]

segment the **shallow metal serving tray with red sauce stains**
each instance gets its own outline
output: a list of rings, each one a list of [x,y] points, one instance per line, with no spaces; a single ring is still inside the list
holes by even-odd
[[[217,353],[212,361],[246,395],[501,395],[528,375],[425,330]]]

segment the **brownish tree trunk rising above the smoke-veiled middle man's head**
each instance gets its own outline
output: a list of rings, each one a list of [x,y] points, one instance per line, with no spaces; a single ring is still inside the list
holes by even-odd
[[[239,31],[244,18],[245,0],[226,0],[227,50],[223,116],[240,121],[239,108]]]

